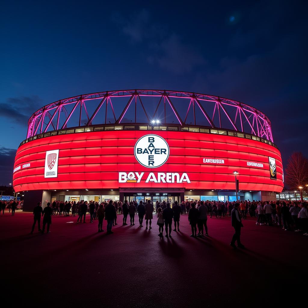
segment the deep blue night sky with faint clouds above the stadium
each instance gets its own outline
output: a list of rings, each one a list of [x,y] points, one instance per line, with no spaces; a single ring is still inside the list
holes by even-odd
[[[284,167],[308,156],[304,1],[2,3],[0,184],[47,103],[115,89],[219,95],[264,112]]]

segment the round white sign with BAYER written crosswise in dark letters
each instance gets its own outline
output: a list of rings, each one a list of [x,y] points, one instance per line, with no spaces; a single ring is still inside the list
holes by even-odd
[[[162,166],[169,157],[169,146],[164,138],[158,135],[145,135],[135,144],[134,154],[139,164],[147,168]]]

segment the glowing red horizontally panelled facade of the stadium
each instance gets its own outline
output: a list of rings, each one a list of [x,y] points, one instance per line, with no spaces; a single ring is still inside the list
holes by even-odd
[[[80,105],[82,107],[83,103]],[[44,125],[51,127],[56,112],[51,114],[50,123]],[[119,119],[121,117],[123,112]],[[176,112],[178,117],[180,114]],[[33,129],[33,116],[31,118]],[[206,196],[210,192],[211,196],[217,195],[217,200],[222,200],[218,197],[223,196],[226,201],[235,190],[235,170],[239,173],[237,179],[243,193],[269,192],[275,196],[282,191],[281,154],[272,141],[254,136],[252,130],[248,134],[234,127],[231,131],[184,122],[181,125],[122,124],[119,119],[115,117],[115,124],[101,124],[100,127],[96,124],[86,128],[81,125],[72,129],[64,127],[62,131],[48,131],[48,127],[40,129],[41,134],[31,136],[17,150],[13,173],[15,191],[45,192],[50,201],[59,196],[66,198],[72,191],[80,198],[89,192],[91,195],[99,192],[97,195],[101,197],[117,193],[120,199],[135,198],[137,193],[153,198],[163,192],[164,195],[172,192],[172,195],[178,194],[178,201],[185,195]],[[134,155],[137,141],[145,135],[160,136],[167,143],[168,159],[157,168],[142,165]],[[53,171],[55,164],[56,172]]]

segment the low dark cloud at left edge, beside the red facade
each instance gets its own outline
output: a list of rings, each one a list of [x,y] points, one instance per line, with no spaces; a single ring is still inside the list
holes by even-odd
[[[12,183],[15,149],[0,146],[0,185]]]

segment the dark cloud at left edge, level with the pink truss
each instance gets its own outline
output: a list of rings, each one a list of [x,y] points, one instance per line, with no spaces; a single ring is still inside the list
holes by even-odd
[[[0,117],[26,126],[29,120],[29,111],[33,113],[42,107],[42,103],[43,100],[36,95],[9,97],[6,99],[6,103],[0,103]]]

